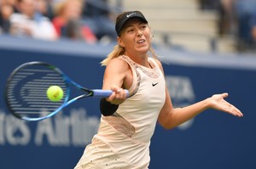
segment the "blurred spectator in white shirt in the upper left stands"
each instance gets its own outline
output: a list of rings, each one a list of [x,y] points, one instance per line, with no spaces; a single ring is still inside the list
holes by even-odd
[[[37,3],[44,0],[17,0],[19,13],[10,16],[11,34],[42,40],[55,40],[56,33],[49,18],[38,12]]]

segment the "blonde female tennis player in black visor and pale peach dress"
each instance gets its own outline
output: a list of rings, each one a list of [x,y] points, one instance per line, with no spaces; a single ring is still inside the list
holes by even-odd
[[[99,130],[75,169],[146,169],[157,121],[171,129],[207,109],[242,116],[240,110],[224,100],[228,93],[174,109],[163,67],[151,48],[152,35],[143,14],[139,11],[119,14],[115,30],[118,44],[102,61],[107,66],[102,88],[112,89],[113,94],[101,100]],[[153,57],[148,57],[148,51]],[[128,98],[124,89],[129,90]]]

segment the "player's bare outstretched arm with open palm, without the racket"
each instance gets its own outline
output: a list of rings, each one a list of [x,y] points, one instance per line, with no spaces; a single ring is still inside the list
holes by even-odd
[[[160,69],[164,74],[164,70],[160,61],[158,61]],[[177,127],[185,121],[189,121],[196,115],[199,115],[202,111],[207,109],[215,109],[224,111],[231,115],[236,115],[238,117],[243,116],[241,111],[238,110],[234,105],[230,104],[224,98],[228,96],[228,93],[214,94],[211,98],[204,99],[195,104],[183,108],[173,108],[172,99],[166,87],[166,102],[163,108],[160,110],[160,115],[158,121],[162,127],[171,129]]]

